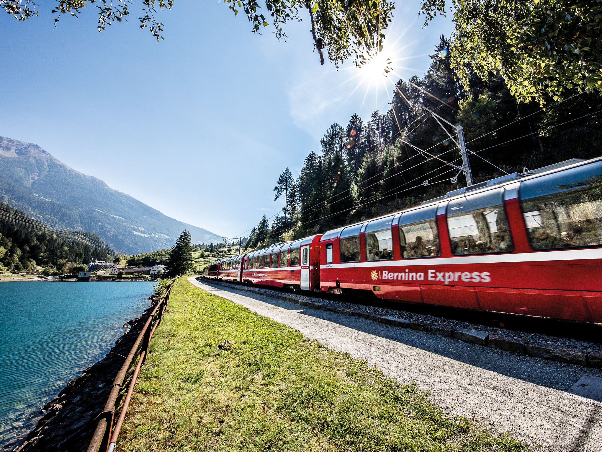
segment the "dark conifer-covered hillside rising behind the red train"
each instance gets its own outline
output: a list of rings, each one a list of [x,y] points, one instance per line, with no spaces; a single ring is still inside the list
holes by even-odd
[[[353,115],[346,125],[332,124],[298,178],[285,169],[275,187],[285,212],[271,225],[264,215],[247,249],[396,212],[465,186],[464,175],[452,183],[458,171],[405,143],[462,165],[458,147],[424,107],[464,128],[467,147],[476,154],[469,154],[474,183],[602,155],[598,93],[567,92],[564,101],[548,98],[542,108],[517,102],[495,74],[487,80],[473,74],[464,89],[450,65],[449,48],[441,37],[424,77],[397,81],[388,111],[374,111],[367,121]],[[447,130],[454,134],[452,127]]]

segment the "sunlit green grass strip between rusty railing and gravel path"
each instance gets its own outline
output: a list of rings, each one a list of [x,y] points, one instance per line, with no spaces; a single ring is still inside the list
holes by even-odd
[[[226,341],[232,344],[218,347]],[[117,450],[527,448],[445,415],[415,383],[400,385],[365,361],[180,278],[152,339]]]

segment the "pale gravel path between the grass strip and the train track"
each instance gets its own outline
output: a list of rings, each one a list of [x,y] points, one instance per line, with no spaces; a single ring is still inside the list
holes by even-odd
[[[602,404],[566,392],[584,374],[602,377],[600,370],[188,280],[333,350],[366,359],[401,383],[416,381],[450,415],[478,419],[542,450],[602,450]]]

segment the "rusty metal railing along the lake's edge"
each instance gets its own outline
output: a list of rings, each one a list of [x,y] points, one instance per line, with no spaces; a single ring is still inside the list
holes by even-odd
[[[163,316],[163,312],[167,307],[167,302],[169,301],[169,294],[171,291],[172,284],[169,284],[165,295],[163,295],[159,303],[157,303],[152,310],[151,315],[149,315],[149,318],[144,324],[144,327],[140,330],[136,342],[134,342],[134,345],[129,351],[128,357],[126,357],[123,366],[121,366],[121,369],[119,369],[119,373],[117,373],[117,376],[113,381],[111,393],[109,394],[107,403],[105,403],[104,410],[99,415],[100,420],[98,421],[98,425],[96,425],[96,430],[92,436],[92,441],[90,441],[90,445],[88,446],[88,452],[99,452],[101,450],[105,452],[113,452],[117,442],[117,436],[119,436],[119,432],[123,425],[123,419],[125,419],[125,413],[128,410],[129,400],[132,397],[132,391],[134,391],[134,385],[136,383],[136,378],[138,377],[138,372],[140,371],[140,366],[143,365],[144,360],[146,360],[151,337],[161,322],[161,317]],[[140,344],[142,344],[142,347],[140,347]],[[131,365],[132,360],[134,360],[134,357],[138,354],[138,348],[140,348],[140,357],[138,358],[138,363],[134,369],[132,378],[129,381],[128,392],[125,395],[123,407],[119,413],[119,419],[117,419],[117,423],[113,428],[117,396],[119,395],[119,391],[121,391],[123,380],[125,380],[129,366]],[[111,431],[113,432],[112,435]]]

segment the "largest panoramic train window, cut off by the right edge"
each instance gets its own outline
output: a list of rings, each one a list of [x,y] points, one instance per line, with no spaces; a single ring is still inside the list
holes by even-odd
[[[523,181],[520,196],[536,250],[602,245],[602,162]]]

